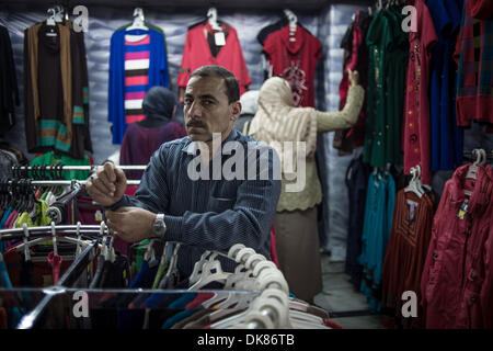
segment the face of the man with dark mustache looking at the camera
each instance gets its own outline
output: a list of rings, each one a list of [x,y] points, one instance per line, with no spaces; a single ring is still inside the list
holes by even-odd
[[[241,113],[240,102],[228,102],[219,77],[191,78],[183,101],[186,133],[194,141],[209,143],[213,133],[221,133],[225,139]]]

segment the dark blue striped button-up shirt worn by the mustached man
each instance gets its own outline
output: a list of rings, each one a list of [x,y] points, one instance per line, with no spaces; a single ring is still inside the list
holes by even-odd
[[[164,213],[167,233],[163,240],[183,244],[177,264],[184,276],[192,273],[194,263],[205,250],[227,252],[234,244],[243,244],[266,258],[271,257],[270,233],[282,183],[274,172],[274,167],[278,165],[274,162],[278,160],[277,154],[266,144],[234,129],[222,141],[221,149],[228,141],[243,147],[244,179],[238,177],[226,180],[222,172],[219,179],[213,174],[215,161],[227,169],[237,170],[231,167],[234,163],[231,158],[241,148],[234,148],[231,155],[216,152],[208,167],[209,177],[191,179],[188,163],[198,160],[199,156],[196,154],[196,144],[186,136],[161,145],[152,155],[135,195],[124,195],[112,206],[112,210],[137,206],[153,213]],[[228,159],[231,159],[230,162],[227,162]],[[252,160],[255,161],[254,169],[246,166]],[[196,169],[200,170],[200,167]],[[255,174],[253,180],[248,177],[252,170]],[[234,262],[226,258],[220,260],[226,271],[236,267]]]

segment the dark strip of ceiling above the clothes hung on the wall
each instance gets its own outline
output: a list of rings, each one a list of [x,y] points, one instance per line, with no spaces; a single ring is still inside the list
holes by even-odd
[[[46,9],[55,4],[71,8],[74,5],[105,8],[160,8],[170,11],[203,10],[216,7],[218,10],[278,10],[319,11],[331,3],[370,4],[368,0],[0,0],[2,9]]]

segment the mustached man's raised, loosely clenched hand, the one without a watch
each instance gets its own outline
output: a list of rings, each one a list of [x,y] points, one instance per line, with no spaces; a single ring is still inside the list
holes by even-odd
[[[127,188],[125,172],[112,162],[106,162],[85,182],[88,194],[103,206],[117,203]]]

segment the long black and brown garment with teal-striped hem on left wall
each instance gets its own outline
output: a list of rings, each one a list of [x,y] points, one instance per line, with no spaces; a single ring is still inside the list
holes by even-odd
[[[54,34],[48,34],[54,31]],[[24,110],[27,150],[82,158],[92,151],[83,33],[70,22],[24,31]]]

